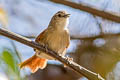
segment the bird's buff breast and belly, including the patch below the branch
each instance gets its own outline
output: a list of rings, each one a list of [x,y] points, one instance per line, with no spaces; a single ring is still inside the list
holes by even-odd
[[[50,32],[49,34],[45,35],[43,41],[45,45],[47,44],[48,48],[64,56],[64,51],[66,49],[66,43],[68,43],[67,42],[68,35],[66,35],[64,31],[63,32],[57,32],[57,31]],[[54,59],[53,57],[46,55],[43,52],[40,52],[39,57],[46,58],[46,59]]]

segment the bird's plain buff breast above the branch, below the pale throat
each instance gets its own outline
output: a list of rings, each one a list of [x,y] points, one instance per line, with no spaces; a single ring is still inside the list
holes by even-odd
[[[64,31],[60,33],[54,31],[53,33],[49,34],[47,38],[48,47],[61,54],[65,49],[66,41],[67,39]]]

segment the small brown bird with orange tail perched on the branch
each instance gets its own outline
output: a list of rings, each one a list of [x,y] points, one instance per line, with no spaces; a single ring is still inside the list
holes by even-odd
[[[64,56],[70,42],[69,31],[67,29],[69,16],[70,14],[65,11],[58,11],[52,17],[48,28],[45,29],[35,41],[47,46],[59,55]],[[45,54],[43,51],[35,50],[35,55],[22,62],[19,66],[20,68],[29,67],[31,72],[34,73],[39,68],[44,69],[48,59],[51,60],[55,58]]]

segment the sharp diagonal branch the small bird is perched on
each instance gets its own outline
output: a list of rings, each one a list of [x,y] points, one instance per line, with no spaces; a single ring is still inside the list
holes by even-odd
[[[89,80],[104,80],[99,74],[96,74],[96,73],[78,65],[77,63],[58,55],[58,53],[52,51],[51,49],[46,48],[45,46],[42,46],[41,44],[36,43],[28,38],[25,38],[23,36],[20,36],[18,34],[15,34],[13,32],[10,32],[10,31],[2,29],[2,28],[0,28],[0,34],[3,36],[6,36],[8,38],[11,38],[15,41],[18,41],[20,43],[23,43],[27,46],[30,46],[32,48],[44,51],[46,54],[56,58],[57,60],[62,62],[64,65],[71,68],[73,71],[77,72],[78,74],[82,74],[83,76],[87,77]]]

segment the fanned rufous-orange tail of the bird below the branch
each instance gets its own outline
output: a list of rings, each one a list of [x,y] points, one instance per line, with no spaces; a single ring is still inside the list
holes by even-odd
[[[19,64],[20,68],[29,67],[31,72],[36,72],[39,68],[44,69],[47,65],[47,59],[39,58],[36,55]]]

